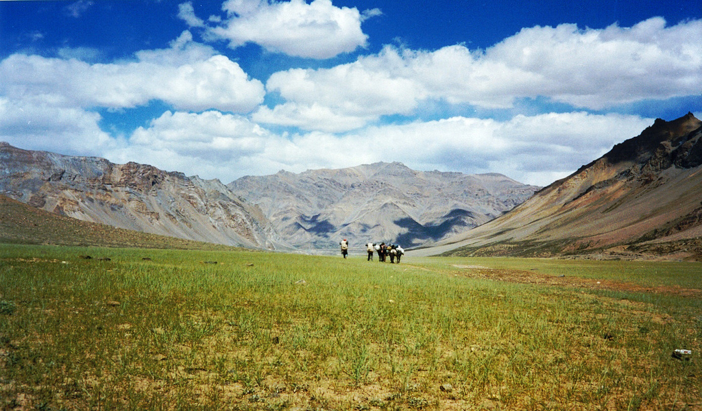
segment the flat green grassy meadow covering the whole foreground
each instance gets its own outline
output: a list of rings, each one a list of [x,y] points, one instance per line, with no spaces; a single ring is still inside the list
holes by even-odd
[[[0,409],[702,410],[701,273],[0,244]]]

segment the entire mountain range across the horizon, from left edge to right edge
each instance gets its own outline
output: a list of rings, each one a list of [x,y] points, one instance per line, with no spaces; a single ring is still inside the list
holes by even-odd
[[[657,119],[548,187],[402,163],[280,171],[222,184],[0,142],[0,196],[152,234],[331,252],[702,260],[702,121]],[[0,227],[1,228],[1,227]],[[0,233],[1,234],[1,233]]]

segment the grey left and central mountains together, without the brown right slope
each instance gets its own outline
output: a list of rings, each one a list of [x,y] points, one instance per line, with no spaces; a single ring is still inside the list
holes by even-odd
[[[0,142],[0,194],[78,220],[249,248],[336,250],[341,237],[421,245],[476,227],[539,187],[401,163],[242,177],[230,184]]]

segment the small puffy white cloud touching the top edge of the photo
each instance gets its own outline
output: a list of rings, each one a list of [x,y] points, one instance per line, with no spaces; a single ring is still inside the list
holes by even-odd
[[[228,20],[212,27],[209,35],[229,41],[231,48],[251,42],[272,52],[317,59],[366,46],[361,22],[379,13],[373,9],[362,15],[357,8],[333,6],[331,0],[228,0],[222,8]],[[186,22],[192,17],[187,14]]]

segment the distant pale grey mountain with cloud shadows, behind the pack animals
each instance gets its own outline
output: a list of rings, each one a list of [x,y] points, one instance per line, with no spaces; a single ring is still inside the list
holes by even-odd
[[[504,175],[415,171],[402,163],[246,176],[227,187],[258,205],[276,231],[303,250],[385,241],[439,241],[483,224],[539,187]]]

